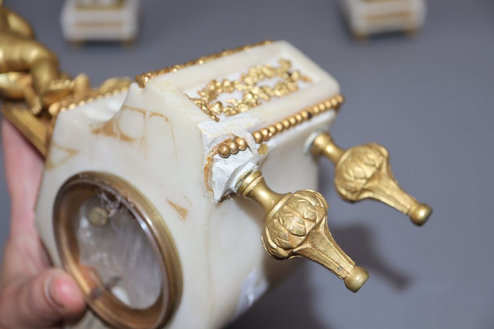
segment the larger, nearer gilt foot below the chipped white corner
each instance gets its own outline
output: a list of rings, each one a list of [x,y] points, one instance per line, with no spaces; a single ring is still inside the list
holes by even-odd
[[[314,260],[343,279],[352,292],[366,283],[369,272],[355,266],[331,236],[326,223],[328,203],[320,193],[307,189],[279,194],[266,185],[260,171],[252,171],[239,179],[237,194],[264,211],[262,244],[270,256]]]

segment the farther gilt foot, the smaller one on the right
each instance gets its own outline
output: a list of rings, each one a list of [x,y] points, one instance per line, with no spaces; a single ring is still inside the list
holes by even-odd
[[[381,201],[408,215],[418,226],[432,213],[430,206],[419,203],[398,185],[384,146],[369,143],[345,150],[334,143],[328,132],[322,132],[312,142],[311,152],[334,163],[334,186],[343,199]]]

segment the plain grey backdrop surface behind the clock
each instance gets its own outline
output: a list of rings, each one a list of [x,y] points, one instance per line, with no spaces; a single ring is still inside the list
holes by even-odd
[[[70,73],[95,84],[181,63],[225,47],[286,39],[341,84],[347,102],[332,128],[344,147],[384,144],[402,186],[434,207],[414,227],[377,203],[350,205],[321,161],[336,241],[371,272],[361,292],[316,264],[301,266],[229,329],[494,328],[494,1],[429,1],[416,38],[351,39],[330,0],[144,0],[132,47],[61,37],[62,1],[6,0],[33,23]],[[0,242],[8,195],[0,183]],[[298,261],[298,260],[293,260]],[[193,316],[193,315],[191,315]]]

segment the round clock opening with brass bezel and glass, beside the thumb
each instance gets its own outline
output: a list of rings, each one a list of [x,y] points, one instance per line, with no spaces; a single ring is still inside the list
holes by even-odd
[[[135,188],[82,173],[60,189],[55,235],[89,306],[123,328],[156,328],[176,307],[181,270],[163,219]]]

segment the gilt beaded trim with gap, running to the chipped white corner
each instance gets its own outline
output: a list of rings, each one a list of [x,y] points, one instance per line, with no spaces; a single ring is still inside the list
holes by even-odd
[[[293,128],[302,122],[312,119],[314,116],[326,112],[327,110],[339,110],[341,104],[345,101],[342,95],[336,95],[324,102],[308,107],[285,119],[261,128],[252,133],[252,137],[256,144],[269,141],[273,136],[287,129]],[[247,142],[245,139],[237,137],[234,140],[227,140],[217,146],[217,153],[222,158],[228,158],[231,154],[237,154],[239,150],[246,150]]]

